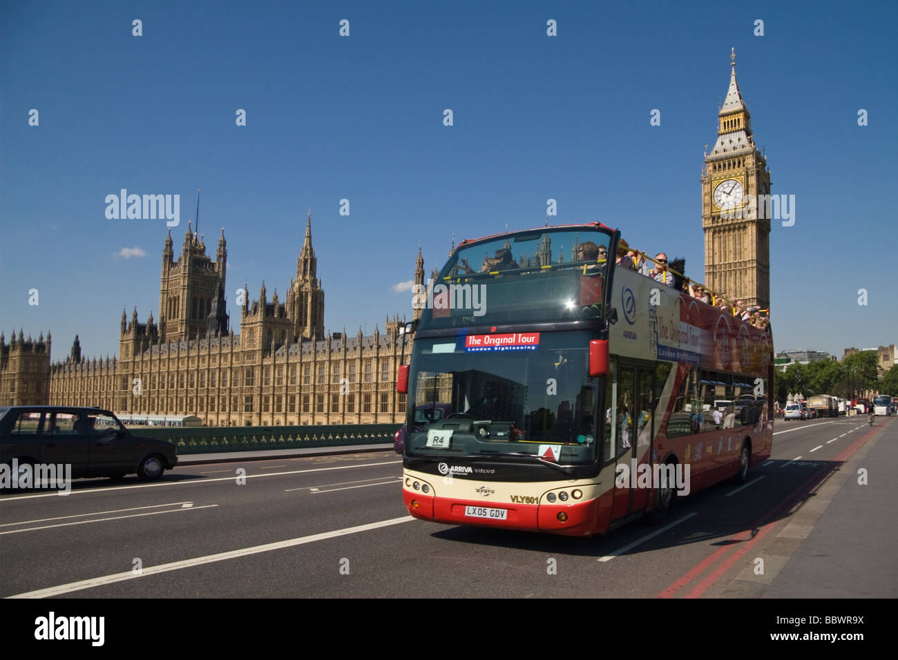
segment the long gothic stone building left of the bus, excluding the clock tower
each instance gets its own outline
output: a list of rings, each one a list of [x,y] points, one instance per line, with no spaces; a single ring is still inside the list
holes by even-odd
[[[281,303],[264,283],[250,304],[244,287],[240,333],[225,312],[224,232],[216,261],[197,233],[184,236],[174,260],[163,247],[160,315],[138,322],[122,312],[119,357],[86,359],[79,340],[64,361],[49,364],[49,337],[2,345],[0,402],[99,406],[120,414],[196,415],[207,426],[397,423],[405,395],[398,366],[411,355],[404,319],[383,334],[325,333],[324,292],[316,276],[311,217],[296,277]],[[423,282],[423,260],[416,281]],[[32,364],[33,363],[33,364]]]

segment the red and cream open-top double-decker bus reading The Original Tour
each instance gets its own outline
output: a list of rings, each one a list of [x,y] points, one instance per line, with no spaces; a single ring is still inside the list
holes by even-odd
[[[620,238],[465,241],[418,292],[397,383],[411,515],[586,536],[770,456],[770,326],[616,267]]]

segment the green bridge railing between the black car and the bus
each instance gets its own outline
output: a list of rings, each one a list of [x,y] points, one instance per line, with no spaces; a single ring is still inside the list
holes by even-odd
[[[392,443],[396,424],[315,427],[130,428],[135,436],[174,443],[178,453],[249,452],[266,449]]]

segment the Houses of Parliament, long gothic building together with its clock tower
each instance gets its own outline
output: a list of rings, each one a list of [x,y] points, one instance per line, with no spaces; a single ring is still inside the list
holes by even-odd
[[[705,280],[711,290],[769,307],[770,219],[749,198],[770,193],[770,172],[753,142],[750,116],[735,79],[718,109],[718,137],[702,170]],[[722,213],[739,208],[738,214]],[[734,217],[735,216],[735,217]],[[634,246],[649,250],[651,246]],[[405,394],[398,366],[409,362],[404,318],[383,333],[355,337],[324,331],[324,291],[312,247],[312,219],[284,302],[257,300],[243,289],[239,333],[225,305],[225,233],[216,258],[188,231],[177,258],[171,233],[163,244],[159,320],[119,324],[119,356],[82,356],[78,337],[65,359],[50,362],[51,337],[9,343],[0,334],[0,405],[99,406],[121,414],[196,415],[207,426],[401,423]],[[423,285],[418,251],[415,284]],[[416,317],[420,313],[415,311]]]

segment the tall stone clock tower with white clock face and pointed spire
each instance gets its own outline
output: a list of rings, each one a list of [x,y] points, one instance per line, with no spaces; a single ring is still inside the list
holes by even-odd
[[[754,145],[751,117],[735,82],[718,113],[718,138],[701,173],[705,284],[733,301],[770,307],[770,195],[767,161]]]

